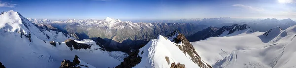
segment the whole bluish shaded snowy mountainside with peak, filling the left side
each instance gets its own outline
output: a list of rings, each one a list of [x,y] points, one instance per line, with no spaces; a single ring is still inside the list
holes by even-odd
[[[6,68],[58,68],[63,59],[74,55],[97,68],[108,68],[127,56],[103,51],[93,40],[74,40],[69,34],[38,26],[12,10],[0,15],[0,43],[0,62]]]

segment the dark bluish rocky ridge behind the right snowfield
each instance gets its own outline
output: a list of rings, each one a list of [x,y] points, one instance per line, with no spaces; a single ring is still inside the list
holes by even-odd
[[[232,26],[223,26],[222,28],[208,27],[202,31],[198,31],[197,33],[187,37],[190,42],[194,42],[194,41],[204,40],[209,37],[220,36],[225,31],[228,31],[227,35],[229,35],[234,33],[235,31],[241,31],[248,28],[250,27],[247,24],[243,24],[243,25],[234,24]]]

